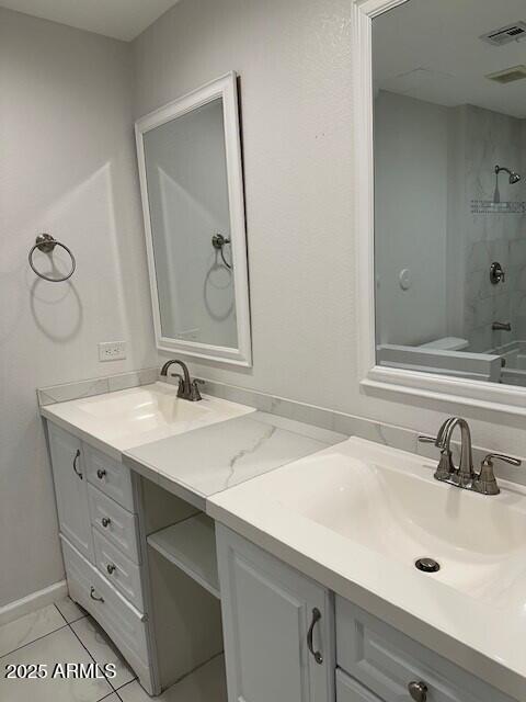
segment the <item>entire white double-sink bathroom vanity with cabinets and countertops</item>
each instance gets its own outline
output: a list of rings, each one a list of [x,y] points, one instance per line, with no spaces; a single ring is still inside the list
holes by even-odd
[[[229,702],[526,699],[524,488],[175,393],[41,408],[70,595],[149,693],[225,649]]]

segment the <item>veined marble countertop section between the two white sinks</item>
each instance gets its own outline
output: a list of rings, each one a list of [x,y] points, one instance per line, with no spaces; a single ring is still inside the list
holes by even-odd
[[[205,511],[213,495],[346,438],[255,411],[136,446],[123,453],[123,462]]]

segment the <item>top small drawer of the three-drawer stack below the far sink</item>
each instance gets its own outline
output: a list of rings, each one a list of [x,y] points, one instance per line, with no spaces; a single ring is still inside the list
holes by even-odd
[[[129,469],[119,461],[84,443],[88,480],[116,502],[134,512],[134,495]]]

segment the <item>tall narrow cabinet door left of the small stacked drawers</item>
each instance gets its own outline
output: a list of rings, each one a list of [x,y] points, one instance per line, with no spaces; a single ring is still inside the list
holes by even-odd
[[[48,430],[60,532],[93,563],[93,535],[82,443],[55,424],[48,423]]]

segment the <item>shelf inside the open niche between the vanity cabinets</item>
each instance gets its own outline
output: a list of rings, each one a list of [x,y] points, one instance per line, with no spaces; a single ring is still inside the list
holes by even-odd
[[[148,544],[220,599],[214,520],[203,512],[161,529]]]

